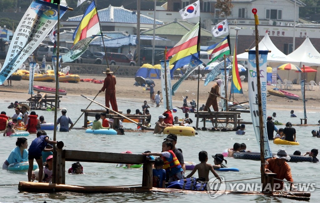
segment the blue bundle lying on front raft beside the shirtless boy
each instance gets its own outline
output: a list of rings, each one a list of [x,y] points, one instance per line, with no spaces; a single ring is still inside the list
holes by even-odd
[[[207,183],[198,181],[195,177],[191,177],[168,183],[166,185],[166,188],[192,191],[206,191]]]

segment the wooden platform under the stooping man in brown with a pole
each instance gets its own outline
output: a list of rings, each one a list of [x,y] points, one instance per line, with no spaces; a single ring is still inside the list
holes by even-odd
[[[229,111],[195,111],[196,128],[198,128],[199,118],[212,118],[214,120],[214,127],[217,128],[218,120],[222,119],[231,119],[231,122],[234,124],[234,128],[239,125],[240,112],[229,112]],[[238,121],[239,120],[239,121]],[[205,119],[203,119],[203,126],[205,127]]]

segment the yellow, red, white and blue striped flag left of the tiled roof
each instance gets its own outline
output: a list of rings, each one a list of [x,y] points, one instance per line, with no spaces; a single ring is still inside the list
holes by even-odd
[[[94,1],[89,5],[87,10],[73,33],[72,39],[75,45],[79,40],[87,37],[92,37],[92,35],[99,35],[101,33],[98,13]]]

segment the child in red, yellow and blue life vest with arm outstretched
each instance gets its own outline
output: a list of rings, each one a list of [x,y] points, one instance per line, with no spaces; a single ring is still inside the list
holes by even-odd
[[[160,153],[142,153],[147,156],[160,156],[164,160],[163,169],[169,174],[169,183],[181,180],[183,178],[183,169],[172,151],[173,144],[171,141],[162,142],[162,151]]]

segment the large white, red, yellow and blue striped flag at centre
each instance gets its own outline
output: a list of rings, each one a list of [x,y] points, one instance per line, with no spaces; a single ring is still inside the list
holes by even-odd
[[[172,56],[170,59],[170,65],[176,62],[174,68],[171,69],[170,73],[173,75],[174,70],[188,64],[191,60],[192,54],[196,57],[199,56],[198,48],[200,48],[200,29],[199,22],[196,24],[192,30],[190,30],[187,34],[185,34],[181,40],[174,45],[172,49],[167,52],[168,57]]]

